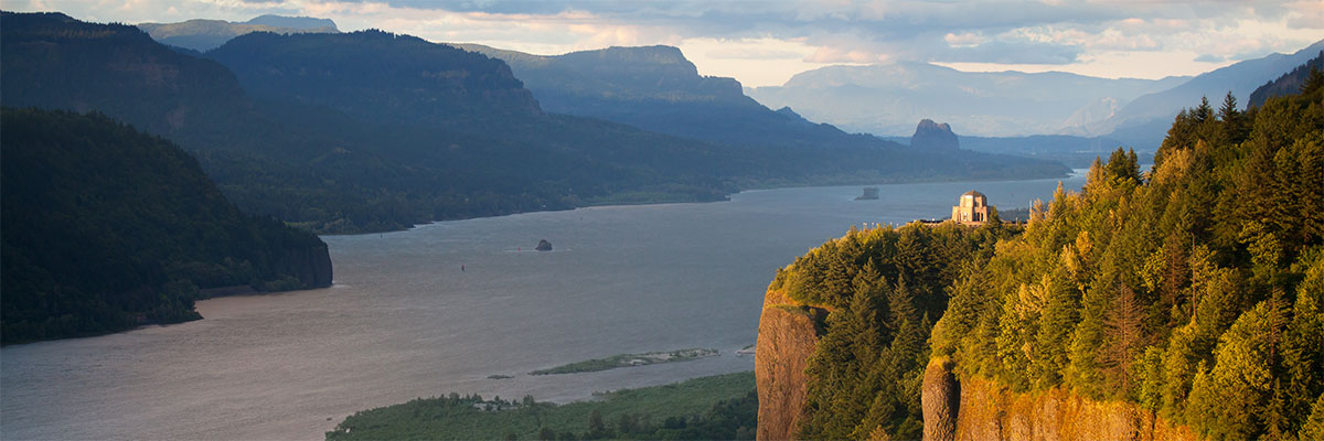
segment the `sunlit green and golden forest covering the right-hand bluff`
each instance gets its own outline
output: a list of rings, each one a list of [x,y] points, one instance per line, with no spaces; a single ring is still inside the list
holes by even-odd
[[[915,422],[899,417],[919,415],[918,373],[931,351],[955,359],[963,375],[1131,401],[1214,440],[1317,440],[1324,75],[1247,113],[1230,97],[1219,109],[1205,101],[1182,111],[1155,162],[1141,172],[1133,154],[1117,150],[1091,167],[1082,192],[1059,189],[1033,208],[1023,233],[977,248],[993,253],[931,260],[933,274],[955,277],[920,282],[902,273],[906,283],[892,293],[948,299],[928,346],[922,336],[899,344],[914,338],[890,323],[920,315],[898,315],[896,294],[865,294],[882,289],[859,274],[888,266],[858,249],[887,246],[854,237],[887,233],[853,233],[801,258],[817,264],[797,261],[777,283],[834,309],[812,359],[801,433],[859,438],[880,424],[918,437]],[[907,348],[903,362],[892,362],[896,347]]]

